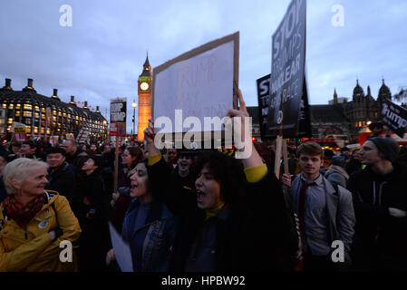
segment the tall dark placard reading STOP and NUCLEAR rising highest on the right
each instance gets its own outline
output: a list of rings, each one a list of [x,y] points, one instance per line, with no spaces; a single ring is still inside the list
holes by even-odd
[[[293,0],[272,38],[266,137],[296,138],[305,86],[305,28],[306,1]]]

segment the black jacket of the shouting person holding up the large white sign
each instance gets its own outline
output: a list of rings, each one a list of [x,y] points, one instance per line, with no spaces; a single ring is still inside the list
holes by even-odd
[[[269,172],[260,182],[247,184],[245,197],[225,205],[226,217],[218,215],[208,221],[205,211],[198,208],[196,194],[172,186],[170,167],[163,160],[149,167],[149,177],[152,186],[160,187],[153,192],[160,192],[160,198],[180,218],[171,271],[185,270],[191,247],[209,220],[216,223],[212,250],[216,271],[287,270],[294,266],[298,246],[296,229],[292,227],[274,174]]]

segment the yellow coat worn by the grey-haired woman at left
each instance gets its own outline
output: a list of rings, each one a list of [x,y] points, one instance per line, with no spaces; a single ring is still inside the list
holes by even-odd
[[[52,190],[45,190],[45,194],[48,200],[45,200],[43,208],[30,221],[26,230],[19,227],[15,220],[5,218],[3,204],[0,206],[0,271],[77,271],[74,253],[73,262],[61,262],[60,253],[66,249],[66,246],[60,247],[60,243],[63,240],[73,243],[79,239],[81,227],[78,219],[73,215],[65,197]],[[57,212],[56,218],[53,208]],[[40,222],[47,216],[49,218],[46,227],[40,228]],[[54,227],[60,227],[63,230],[63,236],[53,242],[48,232]]]

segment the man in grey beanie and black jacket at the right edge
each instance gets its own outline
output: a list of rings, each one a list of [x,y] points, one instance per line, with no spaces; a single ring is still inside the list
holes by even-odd
[[[407,169],[396,163],[399,145],[389,138],[364,142],[366,168],[351,175],[356,235],[354,261],[362,270],[407,270]]]

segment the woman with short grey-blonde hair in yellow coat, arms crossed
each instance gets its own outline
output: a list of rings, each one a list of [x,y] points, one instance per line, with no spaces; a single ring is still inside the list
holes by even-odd
[[[20,158],[3,171],[8,197],[0,206],[0,271],[77,270],[73,242],[81,227],[68,200],[44,190],[47,167]]]

